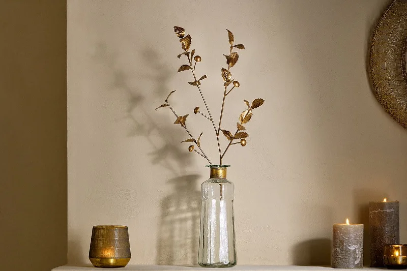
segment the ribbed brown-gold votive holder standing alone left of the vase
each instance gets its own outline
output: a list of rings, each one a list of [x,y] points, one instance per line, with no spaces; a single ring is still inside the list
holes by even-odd
[[[89,260],[95,267],[125,267],[130,261],[127,226],[93,226]]]

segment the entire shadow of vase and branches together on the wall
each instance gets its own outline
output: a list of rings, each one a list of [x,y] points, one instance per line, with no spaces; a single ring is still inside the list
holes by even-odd
[[[160,61],[165,58],[159,57],[151,48],[143,50],[141,56],[143,74],[134,75],[131,72],[132,76],[129,76],[130,72],[118,67],[115,54],[107,49],[106,44],[99,44],[95,53],[95,58],[102,61],[112,74],[112,89],[122,91],[128,97],[124,119],[132,125],[127,136],[145,138],[152,149],[149,153],[152,164],[167,169],[174,176],[166,181],[167,185],[172,186],[172,193],[160,201],[156,263],[197,265],[200,191],[195,188],[200,175],[185,172],[192,161],[185,145],[180,144],[185,131],[173,124],[169,113],[164,116],[166,124],[158,124],[155,119],[163,116],[156,113],[155,107],[147,102],[153,98],[164,100],[167,97],[169,90],[166,84],[173,72]],[[131,85],[134,79],[138,82],[149,81],[149,85],[153,84],[154,87],[140,91]]]

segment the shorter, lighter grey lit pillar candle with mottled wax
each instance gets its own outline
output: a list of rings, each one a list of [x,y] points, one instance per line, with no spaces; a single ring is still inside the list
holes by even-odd
[[[332,267],[363,268],[363,224],[334,224]]]

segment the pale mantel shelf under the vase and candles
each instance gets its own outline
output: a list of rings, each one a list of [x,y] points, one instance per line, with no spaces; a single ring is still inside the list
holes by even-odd
[[[385,270],[386,268],[369,268],[364,267],[363,271],[377,271]],[[204,268],[204,267],[188,267],[188,266],[177,266],[177,265],[149,265],[149,264],[137,264],[137,265],[127,265],[123,268],[97,268],[92,265],[64,265],[52,269],[53,271],[101,271],[101,270],[129,270],[129,271],[206,271],[206,270],[217,270],[217,271],[339,271],[339,270],[349,270],[356,271],[358,269],[336,269],[332,267],[321,267],[321,266],[299,266],[299,265],[236,265],[234,267],[227,268]]]

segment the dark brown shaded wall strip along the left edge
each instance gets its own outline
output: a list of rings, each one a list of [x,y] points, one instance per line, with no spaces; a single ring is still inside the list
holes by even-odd
[[[67,262],[66,1],[0,3],[1,270]]]

